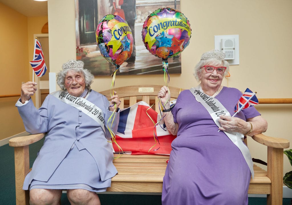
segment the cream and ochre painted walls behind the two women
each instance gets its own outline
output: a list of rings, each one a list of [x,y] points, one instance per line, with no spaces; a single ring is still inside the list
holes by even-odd
[[[292,98],[288,87],[292,74],[288,60],[292,48],[291,8],[291,0],[223,0],[220,4],[215,0],[181,0],[180,10],[190,21],[192,37],[182,53],[182,74],[171,75],[169,85],[185,89],[197,85],[192,69],[202,52],[214,48],[214,35],[238,34],[240,64],[230,66],[231,77],[223,85],[240,90],[249,87],[258,92],[258,98]],[[62,63],[75,58],[74,9],[72,0],[48,1],[51,72],[57,73]],[[7,77],[2,79],[5,88],[0,94],[18,93],[21,82],[31,80],[28,61],[33,48],[30,45],[33,44],[33,34],[39,34],[46,22],[47,17],[27,18],[0,3],[0,28],[5,31],[0,37],[7,39],[2,41],[5,52],[1,50],[1,55],[4,53],[1,71]],[[15,52],[17,57],[11,55]],[[92,87],[96,91],[107,90],[111,82],[110,76],[96,76]],[[163,75],[117,76],[115,81],[115,87],[135,84],[164,85]],[[0,140],[24,131],[14,108],[15,100],[0,99],[0,110],[5,116],[0,118],[1,131],[4,130]],[[289,129],[291,105],[257,105],[256,108],[269,123],[266,135],[292,142]],[[249,148],[253,157],[266,161],[265,146],[249,140]],[[284,173],[290,170],[291,165],[284,156]]]

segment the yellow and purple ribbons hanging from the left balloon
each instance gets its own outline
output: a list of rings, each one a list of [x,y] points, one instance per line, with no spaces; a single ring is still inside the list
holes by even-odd
[[[114,95],[114,81],[116,79],[116,72],[117,72],[118,68],[119,68],[119,66],[117,66],[116,70],[112,73],[112,83],[111,83],[111,86],[110,86],[110,96],[111,97]],[[112,90],[112,92],[111,92],[111,90]],[[117,104],[116,103],[114,103],[114,108],[115,108],[114,110],[117,109]],[[110,143],[113,143],[114,142],[117,145],[118,149],[119,149],[119,155],[117,157],[114,157],[114,159],[117,159],[117,158],[121,157],[121,153],[123,153],[123,150],[118,145],[117,140],[116,140],[116,135],[112,131],[112,125],[114,123],[115,117],[116,117],[116,112],[114,111],[111,114],[111,116],[109,116],[109,119],[107,120],[107,129],[109,130],[109,133],[111,134],[111,138],[112,138],[112,141],[108,141],[108,142],[110,142]]]

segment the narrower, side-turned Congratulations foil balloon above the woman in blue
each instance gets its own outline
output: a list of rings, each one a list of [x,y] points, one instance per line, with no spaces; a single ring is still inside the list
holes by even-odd
[[[118,15],[105,15],[96,28],[101,55],[118,69],[133,52],[133,35],[128,23]]]

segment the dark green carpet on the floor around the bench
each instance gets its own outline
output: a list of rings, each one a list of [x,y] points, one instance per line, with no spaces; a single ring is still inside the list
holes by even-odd
[[[44,139],[29,146],[30,167],[43,142]],[[0,205],[15,205],[14,149],[8,144],[0,147],[0,174]],[[100,194],[99,198],[102,205],[161,205],[161,195]],[[291,199],[283,199],[283,205],[290,203]],[[62,194],[61,204],[70,204],[66,194]],[[249,197],[248,204],[264,205],[267,199]]]

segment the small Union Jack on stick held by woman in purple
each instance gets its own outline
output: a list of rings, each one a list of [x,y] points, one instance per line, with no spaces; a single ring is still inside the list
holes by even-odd
[[[246,88],[243,95],[238,100],[237,105],[234,107],[234,109],[235,109],[234,112],[236,112],[236,113],[234,113],[234,115],[236,115],[242,109],[245,109],[245,108],[248,108],[250,106],[257,105],[257,104],[258,104],[258,98],[256,97],[256,92],[252,92],[251,90]]]

